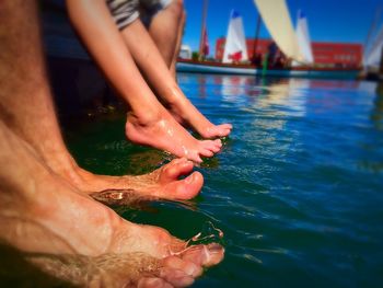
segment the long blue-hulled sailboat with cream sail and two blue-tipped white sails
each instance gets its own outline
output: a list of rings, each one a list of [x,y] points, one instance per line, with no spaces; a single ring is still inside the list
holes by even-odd
[[[313,65],[314,57],[305,15],[298,14],[294,30],[285,0],[254,0],[259,15],[272,41],[283,55],[293,60],[290,67],[269,67],[267,64],[252,65],[248,60],[243,22],[240,13],[231,12],[222,62],[179,59],[177,71],[199,73],[225,73],[276,77],[347,78],[355,79],[359,69],[320,68]],[[206,8],[202,28],[206,30]],[[255,50],[255,49],[254,49]]]

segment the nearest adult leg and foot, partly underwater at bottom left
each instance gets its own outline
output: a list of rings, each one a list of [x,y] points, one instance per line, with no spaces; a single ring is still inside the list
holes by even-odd
[[[0,138],[0,162],[7,163],[7,169],[0,170],[0,241],[28,252],[28,260],[48,273],[89,286],[86,275],[91,272],[85,269],[83,279],[76,270],[68,275],[76,268],[68,265],[68,258],[73,263],[89,256],[98,270],[112,255],[115,260],[108,273],[93,280],[104,283],[115,274],[113,280],[121,281],[118,287],[151,287],[153,281],[178,287],[190,285],[202,266],[222,260],[223,249],[217,244],[186,249],[184,241],[167,231],[126,221],[79,193],[2,120]],[[49,255],[61,256],[61,266],[67,266],[56,267]],[[121,265],[124,270],[119,269]]]

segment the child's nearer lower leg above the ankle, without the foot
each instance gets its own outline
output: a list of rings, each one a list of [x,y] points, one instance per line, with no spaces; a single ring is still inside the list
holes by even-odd
[[[152,106],[146,84],[104,0],[67,0],[72,24],[107,79],[136,112]]]

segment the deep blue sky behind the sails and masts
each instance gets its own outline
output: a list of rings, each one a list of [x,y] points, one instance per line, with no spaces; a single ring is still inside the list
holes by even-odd
[[[274,1],[274,0],[269,0]],[[198,50],[201,27],[202,0],[184,0],[186,27],[183,44]],[[364,44],[368,32],[382,0],[287,0],[290,14],[295,22],[298,9],[302,9],[309,21],[311,38],[314,42],[346,42]],[[240,12],[246,37],[254,37],[258,12],[253,0],[209,0],[207,30],[210,54],[213,55],[216,39],[225,36],[230,11]],[[383,10],[380,24],[383,23]],[[269,35],[263,25],[260,37]]]

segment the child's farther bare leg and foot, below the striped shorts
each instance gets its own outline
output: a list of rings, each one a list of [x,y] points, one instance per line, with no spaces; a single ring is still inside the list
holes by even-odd
[[[224,137],[230,134],[230,124],[213,125],[184,95],[141,21],[132,22],[121,34],[146,79],[178,122],[189,125],[205,138]]]

